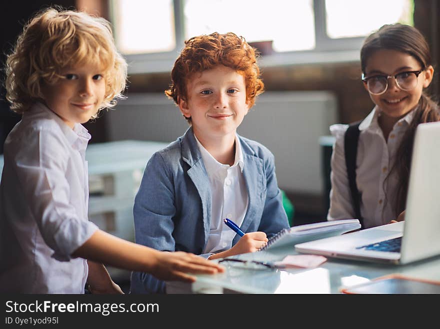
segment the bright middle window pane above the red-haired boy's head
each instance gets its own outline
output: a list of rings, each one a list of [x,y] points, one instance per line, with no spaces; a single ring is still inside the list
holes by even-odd
[[[185,39],[233,32],[247,42],[273,41],[277,52],[315,47],[311,0],[186,0]]]

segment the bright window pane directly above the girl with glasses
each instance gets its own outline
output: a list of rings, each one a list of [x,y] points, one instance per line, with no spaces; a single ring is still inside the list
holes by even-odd
[[[413,25],[410,0],[325,0],[325,12],[332,39],[367,36],[384,24]]]

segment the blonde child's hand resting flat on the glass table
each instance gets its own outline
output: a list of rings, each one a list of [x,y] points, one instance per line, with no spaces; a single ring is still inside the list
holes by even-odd
[[[215,274],[224,267],[192,253],[159,251],[150,273],[160,280],[194,282],[195,277],[187,274]]]

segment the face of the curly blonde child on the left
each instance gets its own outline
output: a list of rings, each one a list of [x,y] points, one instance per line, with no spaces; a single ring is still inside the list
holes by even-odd
[[[65,69],[55,84],[42,89],[47,107],[66,125],[90,120],[102,106],[105,97],[104,73],[95,65]]]

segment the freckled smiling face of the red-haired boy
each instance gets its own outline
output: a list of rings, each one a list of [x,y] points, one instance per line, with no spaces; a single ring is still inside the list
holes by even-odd
[[[244,77],[235,70],[217,66],[195,73],[186,85],[187,100],[179,100],[185,117],[200,142],[235,138],[235,131],[248,111]]]

